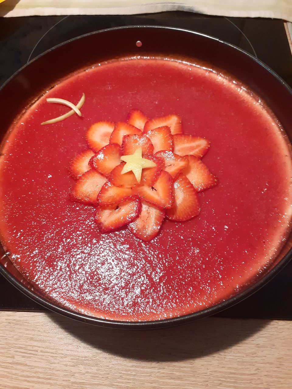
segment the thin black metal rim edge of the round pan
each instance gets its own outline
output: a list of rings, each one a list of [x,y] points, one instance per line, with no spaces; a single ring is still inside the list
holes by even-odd
[[[30,62],[26,63],[23,67],[21,67],[17,72],[15,72],[9,79],[2,84],[0,87],[0,92],[4,87],[12,80],[14,77],[16,77],[19,73],[22,72],[23,69],[28,67],[31,63],[34,61],[37,61],[40,57],[44,56],[45,54],[51,52],[52,50],[62,47],[63,45],[68,44],[69,42],[72,42],[77,39],[85,38],[90,35],[99,34],[103,32],[108,31],[114,31],[114,30],[125,30],[125,29],[163,29],[163,30],[172,30],[172,31],[180,31],[185,33],[192,33],[194,35],[200,35],[202,37],[205,37],[207,39],[216,40],[217,42],[220,42],[221,44],[224,44],[226,46],[232,47],[232,49],[239,51],[246,56],[248,56],[251,60],[257,62],[260,66],[262,66],[264,69],[266,69],[269,73],[271,73],[277,80],[282,84],[282,86],[287,89],[287,91],[292,95],[292,88],[283,80],[281,77],[274,72],[270,67],[268,67],[264,62],[260,61],[258,58],[253,56],[252,54],[248,53],[247,51],[240,49],[239,47],[230,44],[228,42],[225,42],[223,40],[220,40],[215,37],[211,37],[210,35],[195,32],[192,30],[186,30],[183,28],[175,28],[175,27],[166,27],[166,26],[142,26],[142,25],[134,25],[134,26],[121,26],[121,27],[114,27],[114,28],[107,28],[95,32],[91,32],[88,34],[80,35],[78,37],[75,37],[73,39],[67,40],[57,46],[51,47],[51,49],[45,51],[44,53],[40,54],[39,56],[33,58]],[[282,270],[288,262],[292,259],[292,249],[290,249],[287,254],[279,261],[277,265],[275,265],[271,270],[269,270],[263,277],[261,277],[259,280],[255,281],[252,285],[250,285],[248,288],[246,288],[244,291],[235,294],[234,296],[228,298],[225,301],[222,301],[221,303],[215,304],[209,308],[203,309],[198,312],[193,312],[188,315],[179,316],[179,317],[172,317],[170,319],[162,319],[162,320],[156,320],[156,321],[115,321],[115,320],[108,320],[108,319],[100,319],[98,317],[88,316],[84,314],[80,314],[74,311],[71,311],[67,308],[60,307],[59,305],[56,305],[55,303],[46,300],[45,298],[42,298],[38,294],[33,293],[30,289],[28,289],[26,286],[24,286],[21,282],[19,282],[6,268],[4,265],[0,264],[0,273],[12,284],[14,285],[19,291],[24,293],[27,297],[31,298],[32,300],[36,301],[43,307],[52,310],[58,314],[61,314],[63,316],[69,317],[70,319],[75,319],[81,322],[85,322],[88,324],[103,326],[103,327],[109,327],[109,328],[132,328],[132,329],[154,329],[154,328],[165,328],[165,327],[171,327],[171,326],[177,326],[181,324],[185,324],[187,322],[192,322],[198,319],[202,319],[204,317],[208,317],[210,315],[216,314],[218,312],[221,312],[222,310],[231,307],[232,305],[235,305],[239,301],[244,300],[245,298],[251,296],[253,293],[258,291],[262,286],[264,286],[269,280],[271,280],[276,273],[278,273],[280,270]]]

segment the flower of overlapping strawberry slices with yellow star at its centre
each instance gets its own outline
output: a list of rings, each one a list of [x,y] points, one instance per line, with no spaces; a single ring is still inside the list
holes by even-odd
[[[93,124],[86,141],[89,148],[69,165],[77,180],[70,198],[96,207],[101,232],[128,225],[135,237],[150,241],[165,218],[199,215],[198,192],[218,183],[201,161],[209,141],[183,134],[177,115],[149,119],[135,109],[125,123]]]

